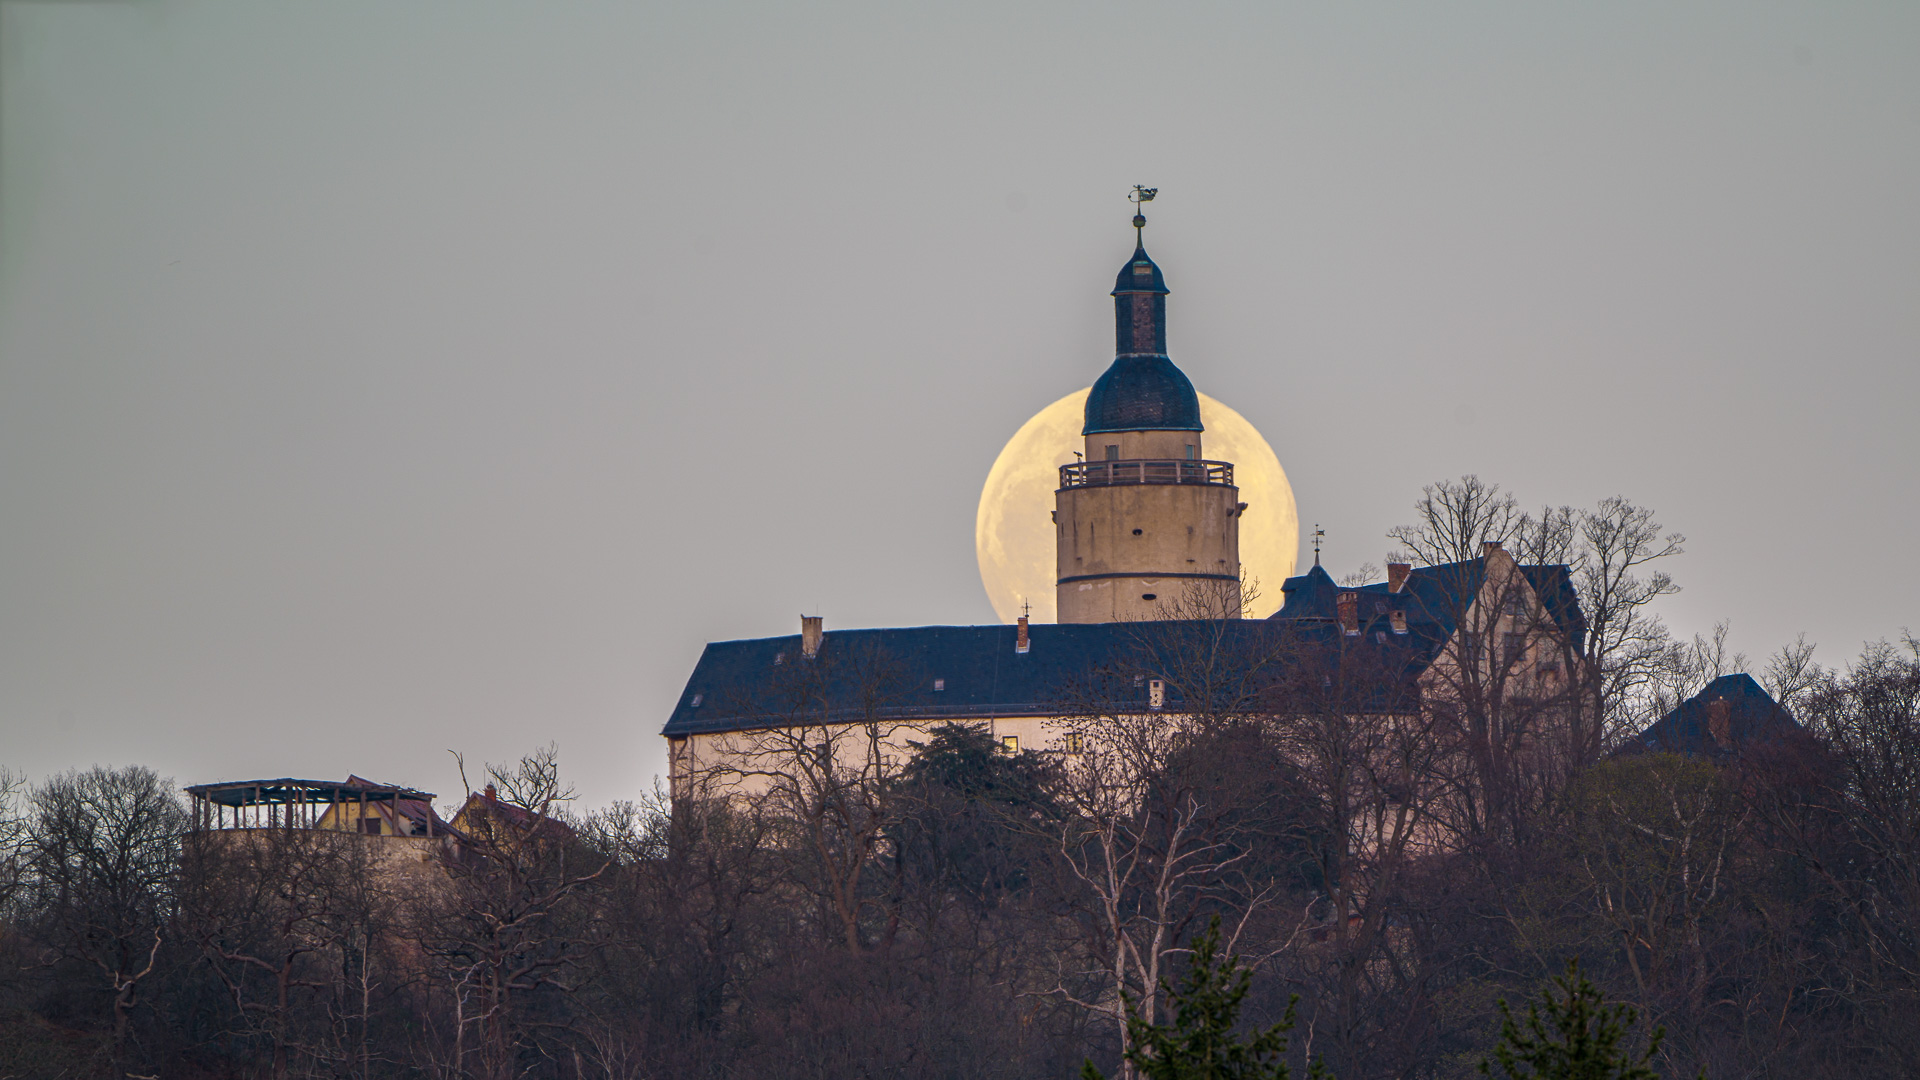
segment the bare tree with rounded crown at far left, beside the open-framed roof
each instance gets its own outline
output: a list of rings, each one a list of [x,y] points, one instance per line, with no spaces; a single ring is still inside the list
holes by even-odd
[[[60,955],[106,980],[115,1053],[159,959],[184,828],[173,784],[144,767],[63,773],[33,792],[33,919]]]

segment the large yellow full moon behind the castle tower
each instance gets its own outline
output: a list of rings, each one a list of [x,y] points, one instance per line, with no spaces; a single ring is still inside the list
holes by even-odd
[[[979,555],[979,582],[1002,623],[1020,617],[1021,603],[1033,605],[1033,621],[1054,621],[1054,488],[1060,467],[1085,446],[1081,421],[1087,390],[1075,390],[1046,405],[1000,448],[979,492],[973,519],[973,550]],[[1267,440],[1246,417],[1200,394],[1204,455],[1233,461],[1240,486],[1240,571],[1250,592],[1254,617],[1281,609],[1281,582],[1294,577],[1300,557],[1300,519],[1294,488]]]

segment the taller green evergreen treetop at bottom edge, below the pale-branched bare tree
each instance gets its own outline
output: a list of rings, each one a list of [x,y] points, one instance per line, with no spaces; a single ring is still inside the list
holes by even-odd
[[[1171,1024],[1150,1024],[1127,1001],[1127,1063],[1146,1080],[1286,1080],[1286,1032],[1294,1028],[1294,1003],[1279,1024],[1252,1038],[1240,1038],[1235,1024],[1246,999],[1252,972],[1240,957],[1219,959],[1219,917],[1194,938],[1192,963],[1179,990],[1162,982],[1173,1005]],[[1298,997],[1294,999],[1298,1001]],[[1332,1080],[1313,1061],[1311,1080]],[[1081,1080],[1106,1080],[1089,1061]]]

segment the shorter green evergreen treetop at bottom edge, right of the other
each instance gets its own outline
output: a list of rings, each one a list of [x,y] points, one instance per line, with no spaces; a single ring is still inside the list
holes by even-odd
[[[1507,1080],[1659,1080],[1647,1061],[1661,1049],[1665,1028],[1653,1028],[1647,1049],[1636,1057],[1620,1045],[1640,1019],[1632,1005],[1609,1005],[1580,974],[1578,959],[1567,961],[1567,974],[1553,976],[1553,986],[1561,995],[1548,988],[1546,1001],[1528,1001],[1524,1024],[1500,1003],[1494,1061]],[[1480,1074],[1494,1074],[1490,1061],[1480,1061]]]

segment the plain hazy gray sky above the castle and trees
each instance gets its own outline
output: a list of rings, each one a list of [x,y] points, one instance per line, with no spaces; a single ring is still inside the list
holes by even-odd
[[[0,2],[0,763],[601,803],[707,640],[993,621],[1133,183],[1336,573],[1473,471],[1920,626],[1910,0]]]

